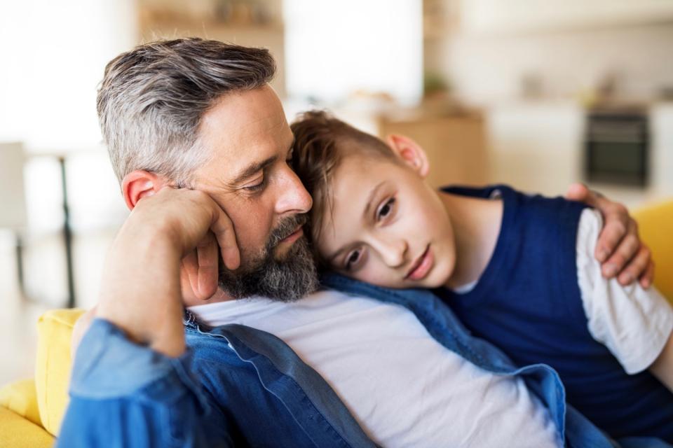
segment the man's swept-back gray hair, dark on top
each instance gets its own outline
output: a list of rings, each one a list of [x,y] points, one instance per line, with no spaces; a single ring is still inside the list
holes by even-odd
[[[223,94],[266,85],[275,71],[268,50],[200,38],[147,43],[112,59],[97,109],[119,182],[144,169],[188,183],[210,157],[198,139],[203,114]]]

